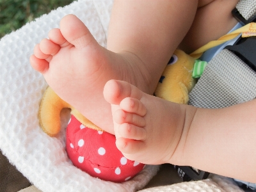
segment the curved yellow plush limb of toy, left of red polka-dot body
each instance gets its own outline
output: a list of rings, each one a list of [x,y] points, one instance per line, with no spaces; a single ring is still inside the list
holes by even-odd
[[[95,124],[85,118],[79,111],[74,109],[70,104],[62,100],[50,87],[45,90],[39,109],[39,122],[45,133],[49,136],[55,136],[60,132],[61,120],[60,113],[63,108],[70,108],[71,114],[74,115],[84,126],[103,131]]]

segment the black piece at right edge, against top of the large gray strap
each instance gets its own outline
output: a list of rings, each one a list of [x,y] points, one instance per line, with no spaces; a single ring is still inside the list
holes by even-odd
[[[240,37],[234,45],[228,45],[225,49],[234,52],[256,72],[256,36]]]

